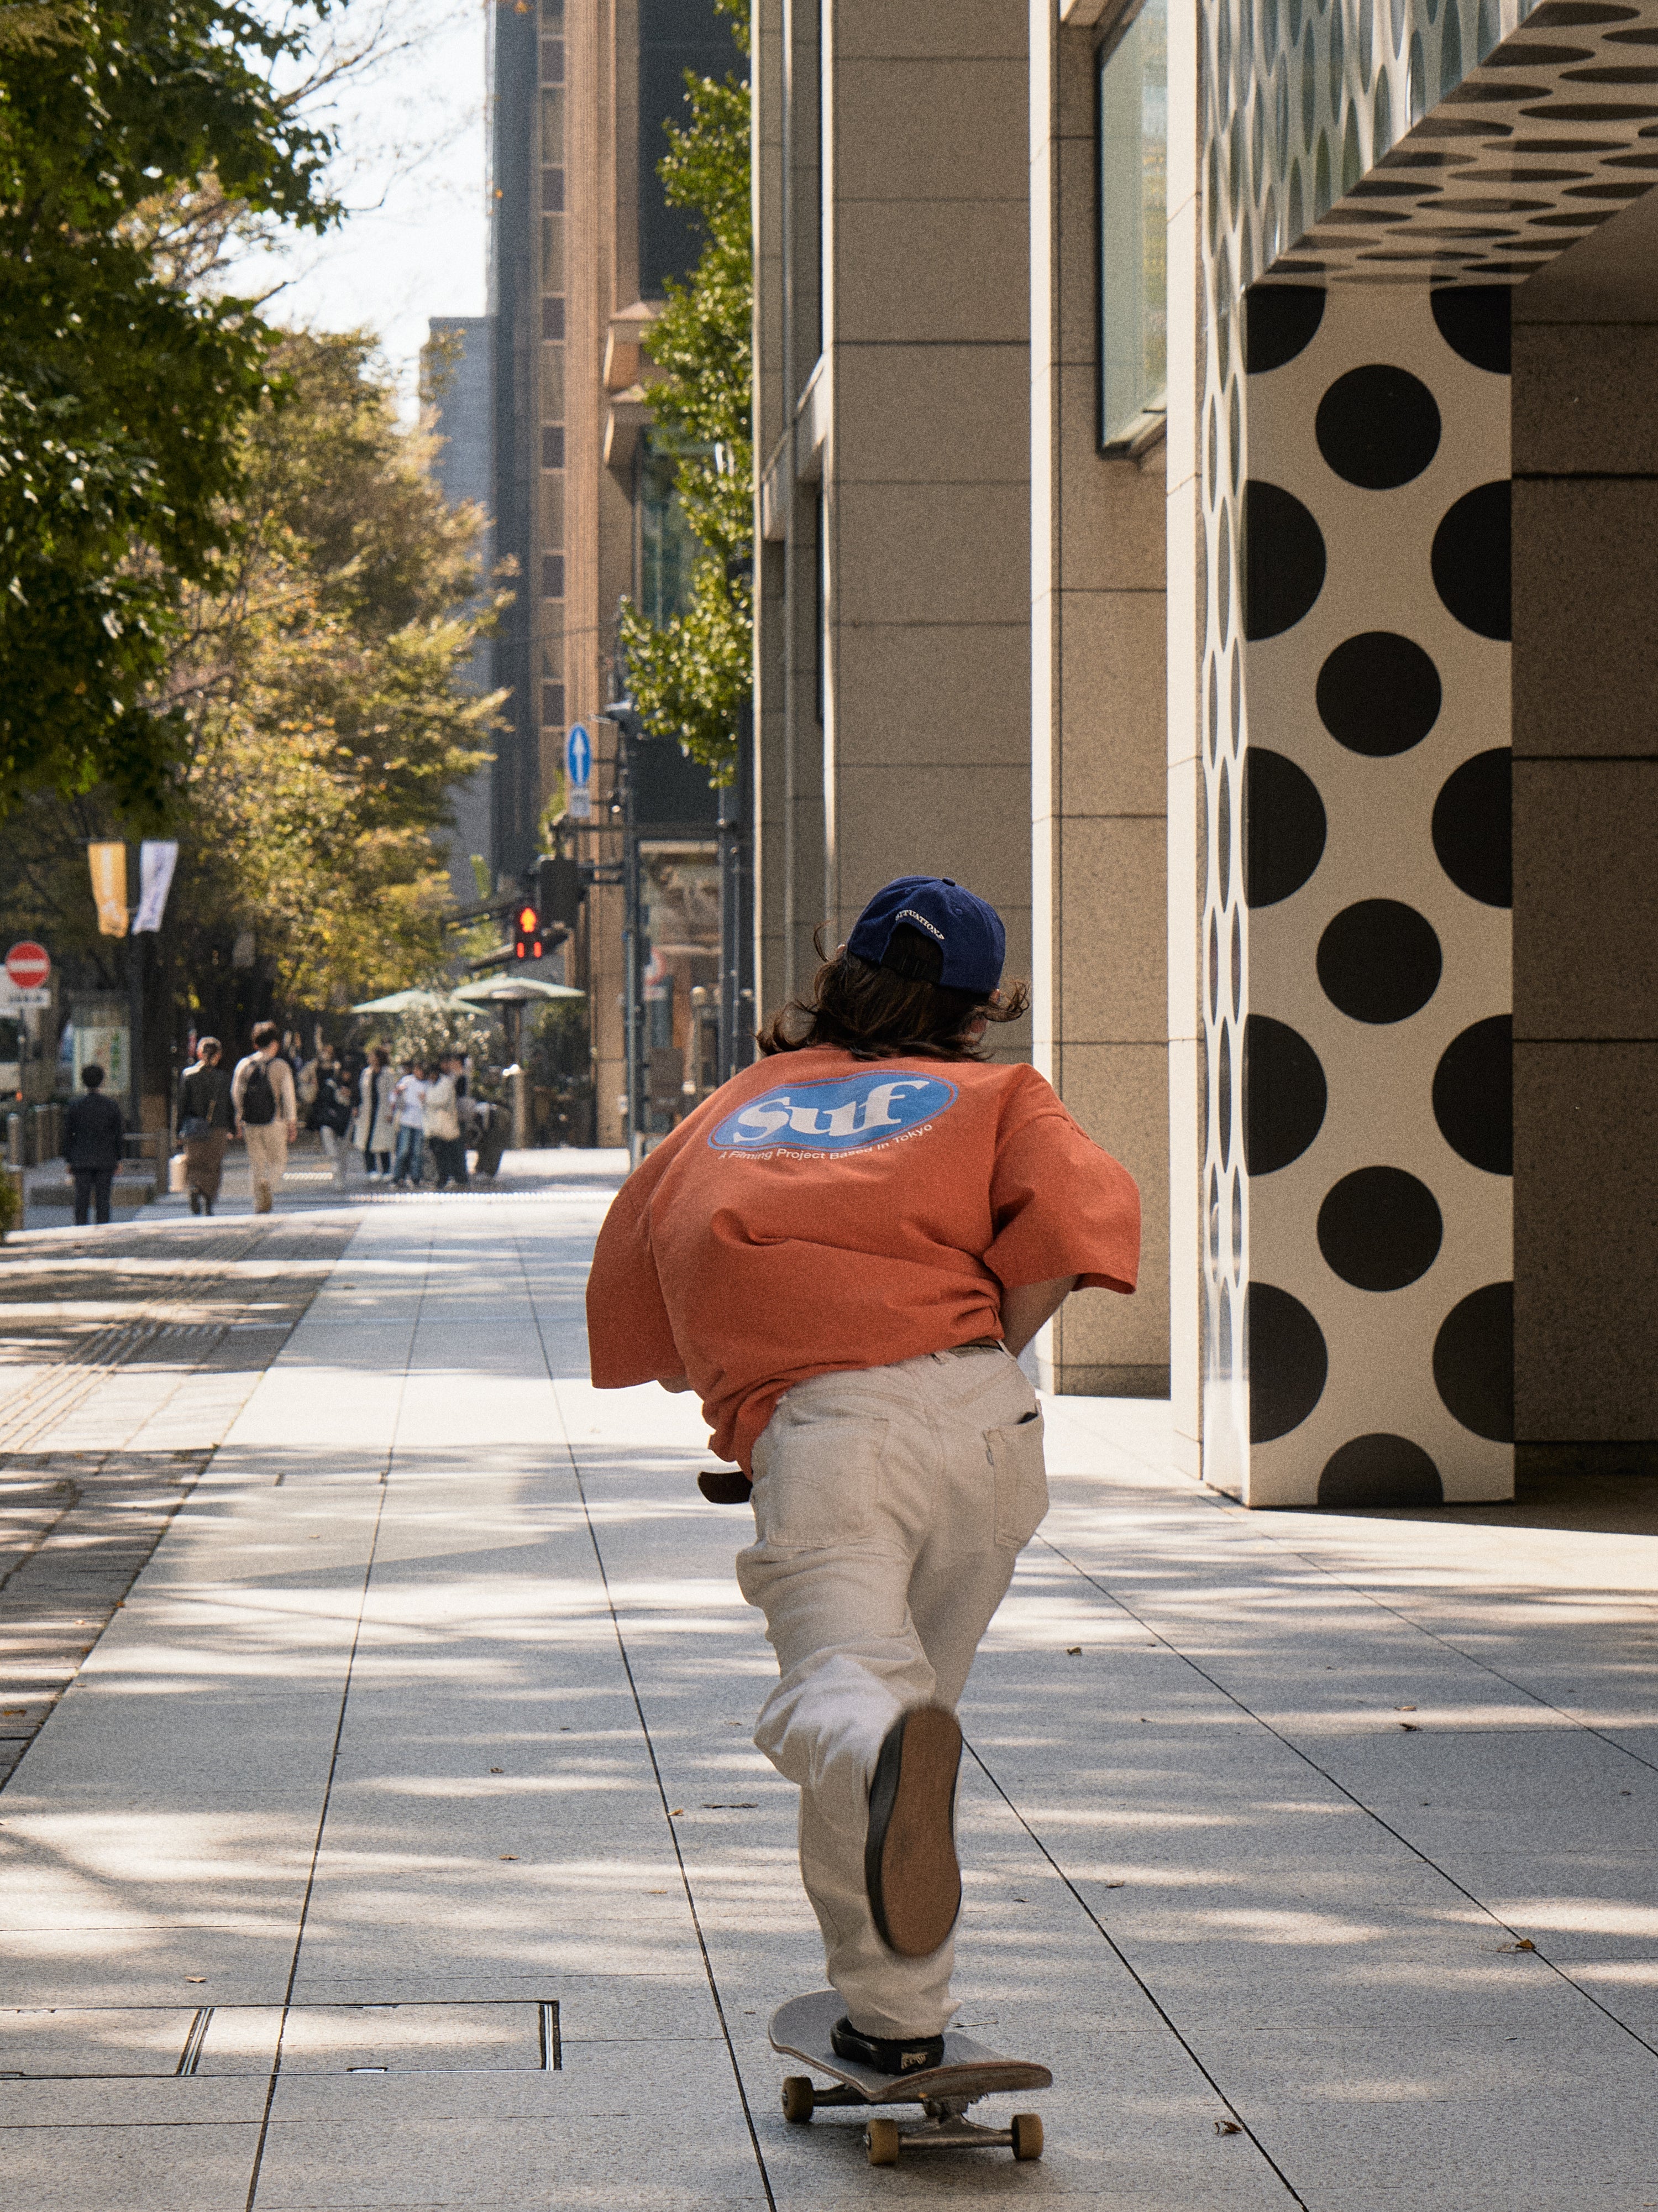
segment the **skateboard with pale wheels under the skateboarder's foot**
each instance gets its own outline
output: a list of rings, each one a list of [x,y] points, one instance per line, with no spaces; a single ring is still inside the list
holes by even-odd
[[[829,2044],[829,2031],[847,2011],[833,1989],[816,1989],[809,1997],[789,1997],[772,2013],[772,2048],[783,2057],[805,2059],[816,2073],[827,2073],[833,2088],[818,2088],[811,2075],[789,2075],[783,2084],[783,2117],[805,2126],[822,2106],[920,2104],[926,2126],[902,2128],[895,2119],[871,2119],[864,2148],[871,2166],[898,2166],[900,2150],[1012,2150],[1015,2159],[1041,2157],[1041,2121],[1035,2112],[1015,2112],[1006,2128],[984,2128],[964,2119],[979,2097],[1012,2095],[1021,2088],[1052,2088],[1046,2066],[1010,2059],[970,2035],[944,2037],[944,2064],[926,2073],[884,2075],[856,2059],[842,2059]]]

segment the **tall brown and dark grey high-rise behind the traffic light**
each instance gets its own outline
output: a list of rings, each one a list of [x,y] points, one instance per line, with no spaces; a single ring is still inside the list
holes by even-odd
[[[493,657],[511,692],[493,779],[497,874],[515,876],[537,852],[579,723],[595,757],[592,818],[566,841],[621,876],[619,732],[601,714],[615,697],[617,608],[630,595],[657,617],[674,613],[694,551],[652,436],[648,334],[663,281],[690,272],[701,241],[668,206],[657,164],[663,124],[688,115],[685,71],[723,77],[741,62],[712,0],[491,0],[493,504],[497,557],[515,566]],[[599,1144],[623,1141],[630,1119],[628,960],[650,1006],[657,1121],[679,1110],[668,1097],[679,1102],[696,1051],[690,991],[710,967],[716,801],[683,770],[674,754],[646,779],[668,814],[639,816],[639,931],[628,933],[621,883],[601,883],[575,942]],[[712,927],[716,967],[716,914]]]

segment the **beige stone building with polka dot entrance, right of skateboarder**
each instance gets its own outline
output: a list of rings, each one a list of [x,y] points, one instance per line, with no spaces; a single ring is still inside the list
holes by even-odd
[[[1004,907],[1147,1201],[1048,1376],[1251,1504],[1658,1438],[1658,4],[756,29],[763,1000]]]

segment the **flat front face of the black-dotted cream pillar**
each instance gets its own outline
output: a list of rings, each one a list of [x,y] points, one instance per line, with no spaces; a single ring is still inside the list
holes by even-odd
[[[1508,290],[1249,303],[1253,1504],[1512,1489],[1505,387]]]

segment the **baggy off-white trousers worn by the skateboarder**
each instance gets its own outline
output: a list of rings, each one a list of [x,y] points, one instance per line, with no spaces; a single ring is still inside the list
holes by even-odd
[[[800,1878],[864,2035],[937,2035],[955,2013],[953,1940],[917,1960],[875,1933],[875,1754],[909,1705],[955,1708],[1046,1511],[1041,1409],[1001,1347],[796,1383],[754,1447],[736,1579],[780,1672],[754,1741],[800,1787]]]

